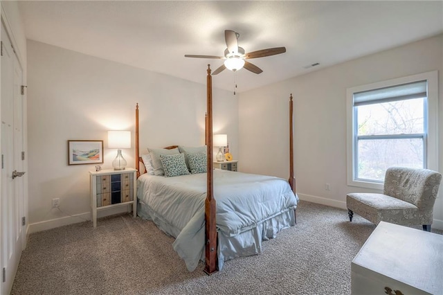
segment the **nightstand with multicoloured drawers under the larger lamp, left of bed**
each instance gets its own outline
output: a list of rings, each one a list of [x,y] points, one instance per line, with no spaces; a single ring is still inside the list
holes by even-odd
[[[89,171],[93,227],[97,226],[97,211],[103,209],[132,205],[137,216],[136,172],[134,168]]]

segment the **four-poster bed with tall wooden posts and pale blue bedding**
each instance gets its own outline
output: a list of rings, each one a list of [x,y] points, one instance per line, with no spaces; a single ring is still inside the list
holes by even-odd
[[[136,161],[139,215],[153,220],[165,233],[176,238],[174,250],[185,260],[188,270],[194,270],[198,261],[204,259],[206,274],[221,269],[225,260],[260,253],[262,240],[275,238],[280,230],[295,224],[298,202],[293,178],[292,95],[289,183],[278,177],[214,170],[210,72],[208,65],[206,173],[186,173],[178,177],[145,173],[141,176],[140,162],[143,161]],[[136,159],[141,156],[139,133],[137,105]],[[166,149],[179,150],[177,145]],[[205,174],[206,179],[202,178]]]

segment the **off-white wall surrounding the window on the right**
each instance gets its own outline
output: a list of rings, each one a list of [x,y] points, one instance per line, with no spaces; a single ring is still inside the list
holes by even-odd
[[[426,71],[439,71],[439,153],[443,168],[443,35],[330,66],[239,96],[242,171],[289,176],[288,99],[294,98],[294,166],[301,199],[345,208],[346,89]],[[325,190],[325,184],[331,190]],[[443,229],[443,189],[433,227]],[[345,217],[343,217],[345,219]]]

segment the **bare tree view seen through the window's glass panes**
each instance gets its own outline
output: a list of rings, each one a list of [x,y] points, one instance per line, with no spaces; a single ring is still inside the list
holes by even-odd
[[[425,98],[355,107],[356,179],[383,181],[390,166],[426,168]]]

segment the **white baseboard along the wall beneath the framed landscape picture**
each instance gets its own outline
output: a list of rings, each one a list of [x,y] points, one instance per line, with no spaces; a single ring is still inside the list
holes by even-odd
[[[97,217],[105,217],[109,215],[114,215],[118,213],[124,213],[127,212],[127,206],[120,206],[120,207],[114,207],[109,208],[106,210],[98,211]],[[35,222],[32,224],[29,224],[28,233],[37,233],[37,231],[46,231],[48,229],[55,229],[56,227],[65,226],[69,224],[75,224],[79,222],[85,222],[87,220],[91,220],[91,212],[85,212],[70,216],[64,216],[60,218],[55,218],[53,220],[44,220],[42,222]],[[91,224],[92,228],[92,224]]]

